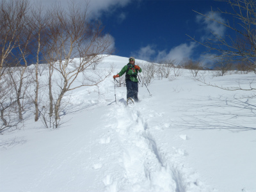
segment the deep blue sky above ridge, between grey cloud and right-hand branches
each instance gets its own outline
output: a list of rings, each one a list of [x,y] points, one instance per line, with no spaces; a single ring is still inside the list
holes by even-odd
[[[200,46],[189,41],[207,35],[207,24],[193,10],[207,13],[215,1],[134,1],[102,14],[106,30],[115,38],[118,56],[160,60],[170,51],[177,57],[200,56]],[[216,30],[221,26],[216,26]],[[172,54],[171,52],[171,54]],[[168,56],[167,56],[168,57]]]

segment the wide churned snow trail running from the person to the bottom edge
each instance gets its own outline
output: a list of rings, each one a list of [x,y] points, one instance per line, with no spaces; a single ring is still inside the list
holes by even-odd
[[[128,107],[119,102],[111,109],[111,122],[115,122],[112,129],[123,151],[124,178],[116,178],[115,188],[106,191],[204,191],[195,175],[177,161],[177,155],[157,146],[148,111],[143,102]],[[150,114],[157,116],[156,111],[150,110]]]

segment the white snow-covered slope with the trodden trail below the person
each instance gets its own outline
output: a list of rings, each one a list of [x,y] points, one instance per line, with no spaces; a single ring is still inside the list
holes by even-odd
[[[116,74],[127,60],[109,56],[99,68],[114,64]],[[244,87],[255,78],[205,76]],[[116,87],[110,104],[109,77],[66,96],[59,129],[31,116],[0,135],[0,191],[256,191],[256,102],[244,97],[253,92],[203,86],[187,70],[148,89],[152,97],[140,86],[140,102],[126,107]]]

